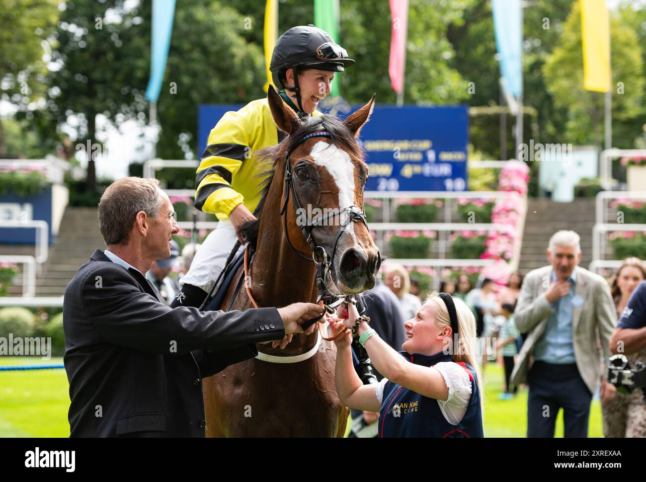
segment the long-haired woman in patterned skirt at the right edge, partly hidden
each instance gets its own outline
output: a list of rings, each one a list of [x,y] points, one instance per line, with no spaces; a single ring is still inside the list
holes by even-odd
[[[610,295],[617,307],[617,319],[621,318],[630,295],[644,279],[646,268],[640,258],[623,260],[610,285]],[[630,366],[635,366],[638,361],[646,362],[646,349],[628,355],[628,361]],[[646,437],[646,405],[641,390],[616,392],[612,399],[601,404],[601,413],[606,437]]]

